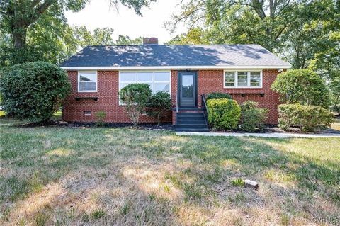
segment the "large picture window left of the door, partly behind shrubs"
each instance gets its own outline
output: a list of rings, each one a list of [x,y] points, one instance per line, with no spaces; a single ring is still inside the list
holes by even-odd
[[[120,72],[119,89],[133,83],[148,84],[152,93],[165,91],[170,94],[170,72]]]

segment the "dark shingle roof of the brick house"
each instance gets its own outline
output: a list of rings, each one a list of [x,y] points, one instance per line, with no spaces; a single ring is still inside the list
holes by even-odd
[[[61,67],[289,67],[261,45],[91,45]]]

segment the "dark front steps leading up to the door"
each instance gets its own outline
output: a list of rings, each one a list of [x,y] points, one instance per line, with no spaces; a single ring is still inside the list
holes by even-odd
[[[176,132],[209,132],[203,111],[176,113]]]

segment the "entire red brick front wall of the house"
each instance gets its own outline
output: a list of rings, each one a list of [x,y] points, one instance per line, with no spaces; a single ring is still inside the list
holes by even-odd
[[[66,121],[96,121],[96,112],[106,112],[106,122],[130,123],[124,106],[118,104],[118,71],[98,71],[98,91],[96,93],[77,92],[77,71],[69,71],[69,79],[72,84],[72,92],[64,103],[62,119]],[[271,91],[270,87],[278,74],[277,70],[263,70],[263,88],[258,89],[225,89],[223,88],[223,70],[200,70],[198,71],[198,105],[200,107],[200,94],[208,94],[213,91],[232,94],[239,103],[247,100],[259,102],[259,105],[270,110],[267,123],[276,124],[278,119],[277,106],[278,94]],[[178,72],[171,71],[171,98],[173,106],[176,106]],[[242,97],[242,94],[246,94]],[[264,93],[261,97],[259,93]],[[98,97],[93,99],[81,99],[76,97]],[[91,111],[91,115],[84,115],[84,111]],[[165,119],[170,121],[171,118]],[[141,115],[141,123],[152,123],[153,118]],[[172,122],[176,122],[176,114],[172,113]]]

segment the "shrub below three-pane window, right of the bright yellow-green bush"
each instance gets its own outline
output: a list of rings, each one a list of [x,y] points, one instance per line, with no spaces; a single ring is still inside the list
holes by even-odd
[[[266,122],[268,109],[259,108],[259,103],[246,101],[241,104],[241,128],[247,132],[262,130]]]

